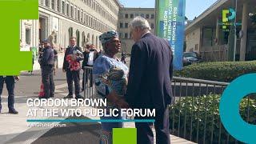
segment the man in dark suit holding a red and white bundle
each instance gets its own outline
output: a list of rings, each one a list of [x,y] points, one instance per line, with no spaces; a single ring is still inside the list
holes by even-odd
[[[70,38],[70,46],[66,48],[65,56],[64,56],[64,62],[62,70],[63,72],[66,72],[66,81],[69,89],[69,94],[65,98],[73,98],[73,82],[74,82],[74,93],[75,98],[83,98],[82,95],[80,95],[80,69],[78,70],[71,70],[70,63],[66,60],[66,57],[70,54],[74,54],[74,51],[78,50],[82,53],[82,49],[78,46],[76,46],[76,38],[71,37]],[[83,54],[80,54],[78,57],[72,57],[74,61],[77,61],[80,63],[80,61],[83,60]]]

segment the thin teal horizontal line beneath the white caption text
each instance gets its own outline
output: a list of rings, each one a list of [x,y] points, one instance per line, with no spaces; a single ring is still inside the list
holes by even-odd
[[[154,122],[154,119],[27,119],[26,122]]]

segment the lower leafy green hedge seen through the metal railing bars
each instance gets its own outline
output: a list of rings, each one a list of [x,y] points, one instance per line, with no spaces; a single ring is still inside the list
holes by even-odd
[[[206,143],[210,143],[211,138],[213,139],[212,143],[218,143],[219,135],[221,135],[220,143],[227,143],[227,141],[229,141],[229,143],[234,143],[235,139],[226,132],[220,122],[218,112],[219,100],[220,96],[213,94],[210,94],[208,96],[204,95],[202,97],[194,97],[193,99],[192,97],[181,98],[180,101],[170,106],[170,130],[172,132],[171,134],[174,133],[174,135],[190,140],[190,133],[192,133],[191,140],[193,142],[197,141],[198,136],[198,143],[203,143],[204,130],[206,130]],[[254,96],[244,98],[240,103],[240,114],[242,118],[246,122],[248,120],[250,124],[256,124],[255,105],[256,100]],[[249,117],[247,114],[248,108],[250,110]],[[192,129],[190,128],[191,122]]]

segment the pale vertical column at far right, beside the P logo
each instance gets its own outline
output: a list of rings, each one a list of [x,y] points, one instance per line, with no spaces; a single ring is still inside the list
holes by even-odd
[[[240,61],[246,60],[246,42],[247,42],[247,25],[248,25],[248,3],[244,2],[242,6],[242,38],[240,47]]]

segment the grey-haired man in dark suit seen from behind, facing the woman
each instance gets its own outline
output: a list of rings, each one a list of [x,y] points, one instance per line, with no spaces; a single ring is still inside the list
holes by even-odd
[[[165,39],[150,33],[145,18],[134,18],[130,30],[135,43],[131,51],[126,101],[131,108],[155,109],[156,142],[170,144],[168,105],[172,97],[172,51]],[[135,125],[137,143],[153,144],[152,123],[136,122]]]

